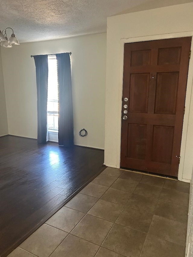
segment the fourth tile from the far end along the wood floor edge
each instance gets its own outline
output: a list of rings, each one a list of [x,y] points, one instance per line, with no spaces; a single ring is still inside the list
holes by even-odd
[[[98,198],[96,197],[78,193],[69,202],[67,202],[65,206],[80,212],[87,213],[97,201]]]

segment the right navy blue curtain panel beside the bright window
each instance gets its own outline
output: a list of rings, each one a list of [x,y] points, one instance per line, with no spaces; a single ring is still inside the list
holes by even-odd
[[[58,65],[59,146],[74,145],[74,125],[72,108],[71,63],[69,53],[56,54]]]

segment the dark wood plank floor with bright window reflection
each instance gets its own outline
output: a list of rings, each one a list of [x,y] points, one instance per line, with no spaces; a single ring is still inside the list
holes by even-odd
[[[103,150],[0,137],[0,256],[7,256],[96,177],[103,161]]]

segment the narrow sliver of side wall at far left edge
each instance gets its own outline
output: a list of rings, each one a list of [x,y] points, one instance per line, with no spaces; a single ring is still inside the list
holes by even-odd
[[[0,49],[0,136],[8,134],[7,110],[5,102],[5,89],[3,80],[3,68]]]

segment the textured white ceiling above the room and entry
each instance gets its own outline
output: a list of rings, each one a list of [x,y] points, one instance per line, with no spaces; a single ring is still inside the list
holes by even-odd
[[[106,32],[109,16],[193,0],[0,0],[0,27],[20,42]]]

